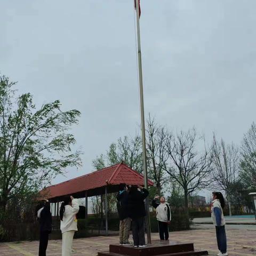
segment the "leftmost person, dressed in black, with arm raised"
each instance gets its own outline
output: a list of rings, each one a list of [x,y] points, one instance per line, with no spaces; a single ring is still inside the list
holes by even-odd
[[[50,203],[47,199],[44,199],[36,206],[36,217],[40,224],[38,256],[46,256],[49,234],[52,231],[52,214]]]

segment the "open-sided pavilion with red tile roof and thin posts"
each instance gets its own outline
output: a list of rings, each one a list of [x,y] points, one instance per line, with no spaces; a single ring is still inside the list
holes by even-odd
[[[67,180],[50,187],[46,187],[40,191],[40,197],[49,199],[50,203],[54,203],[54,212],[59,209],[59,202],[62,202],[64,196],[72,195],[75,198],[85,198],[85,218],[88,215],[88,197],[105,194],[105,221],[106,235],[108,235],[108,193],[117,193],[120,183],[127,185],[144,185],[144,178],[138,172],[132,170],[126,164],[119,163],[104,169],[94,171],[89,174],[82,175],[75,179]],[[153,186],[153,182],[148,180],[148,186]],[[57,205],[56,205],[57,204]],[[57,210],[57,217],[59,211]]]

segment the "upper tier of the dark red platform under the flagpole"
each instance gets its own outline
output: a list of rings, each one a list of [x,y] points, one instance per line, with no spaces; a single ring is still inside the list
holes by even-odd
[[[133,246],[120,246],[114,244],[109,245],[109,252],[128,256],[154,256],[191,251],[194,251],[193,243],[183,244],[174,241],[164,243],[159,241],[153,241],[145,248],[134,248]]]

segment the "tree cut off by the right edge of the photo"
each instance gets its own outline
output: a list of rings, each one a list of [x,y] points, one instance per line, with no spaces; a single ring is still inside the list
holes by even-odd
[[[256,187],[256,124],[244,134],[240,177],[247,188]]]

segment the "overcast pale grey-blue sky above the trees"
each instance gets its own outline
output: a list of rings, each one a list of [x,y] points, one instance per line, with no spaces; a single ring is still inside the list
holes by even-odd
[[[133,0],[1,2],[0,71],[35,103],[82,116],[73,133],[93,170],[111,142],[139,130]],[[239,144],[255,121],[255,0],[141,0],[146,114]]]

